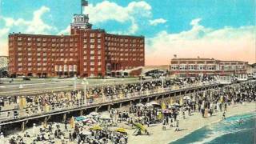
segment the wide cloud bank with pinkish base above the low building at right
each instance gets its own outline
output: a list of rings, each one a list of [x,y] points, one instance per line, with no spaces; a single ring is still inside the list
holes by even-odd
[[[214,30],[200,25],[200,21],[200,18],[192,20],[192,28],[178,34],[161,31],[153,38],[146,38],[146,65],[170,64],[174,54],[178,58],[200,56],[255,62],[256,26]]]

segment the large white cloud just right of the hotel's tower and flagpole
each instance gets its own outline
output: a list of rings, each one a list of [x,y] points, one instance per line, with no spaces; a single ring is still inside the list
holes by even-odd
[[[151,6],[146,2],[130,2],[128,6],[119,6],[114,2],[103,1],[95,6],[90,4],[86,7],[84,14],[90,15],[90,22],[97,24],[106,21],[116,21],[120,23],[130,22],[131,26],[121,34],[134,34],[138,30],[137,20],[140,18],[150,18]]]

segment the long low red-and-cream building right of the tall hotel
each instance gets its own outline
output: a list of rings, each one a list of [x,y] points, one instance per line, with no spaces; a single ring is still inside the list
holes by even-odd
[[[214,58],[172,58],[170,74],[181,77],[197,77],[200,75],[242,75],[246,74],[248,62],[221,61]]]

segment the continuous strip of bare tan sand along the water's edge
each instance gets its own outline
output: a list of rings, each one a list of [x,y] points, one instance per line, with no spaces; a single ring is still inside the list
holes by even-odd
[[[230,105],[227,107],[226,118],[239,114],[248,114],[256,110],[256,102],[250,102],[245,104]],[[134,136],[133,130],[127,130],[129,137],[128,143],[142,143],[142,144],[154,144],[154,143],[171,143],[177,141],[180,138],[186,137],[186,135],[193,133],[195,130],[201,129],[204,126],[208,126],[222,121],[222,112],[215,112],[212,117],[202,118],[202,115],[198,112],[192,113],[192,116],[187,116],[186,119],[179,115],[180,131],[175,132],[174,127],[166,126],[166,130],[162,130],[162,124],[156,126],[150,126],[147,128],[150,131],[150,136],[140,135]],[[147,127],[147,126],[146,126]]]

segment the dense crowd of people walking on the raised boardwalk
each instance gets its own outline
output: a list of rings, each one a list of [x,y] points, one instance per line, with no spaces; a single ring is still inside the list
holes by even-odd
[[[47,94],[38,94],[34,96],[7,97],[0,99],[0,112],[6,111],[6,105],[12,105],[13,114],[6,116],[18,118],[19,115],[30,116],[32,114],[40,114],[49,112],[50,110],[62,110],[72,108],[74,106],[89,105],[96,102],[111,101],[118,98],[132,97],[132,94],[146,93],[151,90],[159,90],[171,86],[182,87],[198,82],[213,81],[212,78],[176,78],[176,79],[157,79],[150,82],[128,83],[113,86],[95,86],[84,90],[51,92]],[[135,95],[136,96],[136,95]],[[98,101],[97,101],[98,100]]]

